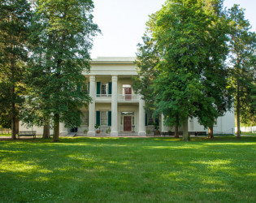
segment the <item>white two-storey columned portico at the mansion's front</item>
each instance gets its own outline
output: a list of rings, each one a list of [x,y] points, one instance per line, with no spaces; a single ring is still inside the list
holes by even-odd
[[[138,136],[145,136],[145,102],[132,90],[132,76],[137,75],[134,58],[108,59],[94,59],[87,75],[89,96],[92,97],[87,135],[95,136],[97,123],[102,132],[110,129],[111,136],[118,136],[119,132],[137,132]]]

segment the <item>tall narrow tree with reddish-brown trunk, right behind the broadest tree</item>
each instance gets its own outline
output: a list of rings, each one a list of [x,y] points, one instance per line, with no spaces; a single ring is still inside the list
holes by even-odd
[[[211,98],[198,109],[196,114],[199,123],[209,128],[208,137],[213,138],[215,119],[223,116],[232,108],[232,89],[229,85],[229,72],[225,60],[228,56],[228,19],[223,12],[223,1],[203,1],[203,10],[209,16],[207,28],[205,66],[202,71],[202,84],[205,97]],[[207,112],[207,114],[206,114]]]

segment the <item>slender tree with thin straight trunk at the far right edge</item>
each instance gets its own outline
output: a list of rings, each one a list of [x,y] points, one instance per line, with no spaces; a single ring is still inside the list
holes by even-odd
[[[237,138],[241,138],[241,114],[255,112],[252,102],[255,87],[255,43],[256,34],[249,32],[249,21],[238,5],[228,11],[230,19],[230,63],[236,106]]]

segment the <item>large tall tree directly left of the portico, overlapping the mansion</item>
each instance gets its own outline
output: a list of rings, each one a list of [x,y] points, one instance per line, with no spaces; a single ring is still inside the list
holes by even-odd
[[[80,125],[78,108],[90,102],[87,93],[76,89],[85,84],[82,71],[89,70],[89,50],[98,26],[93,24],[90,0],[38,0],[28,84],[33,103],[41,116],[53,119],[53,141],[59,141],[59,122],[67,127]],[[39,39],[39,41],[37,40]]]

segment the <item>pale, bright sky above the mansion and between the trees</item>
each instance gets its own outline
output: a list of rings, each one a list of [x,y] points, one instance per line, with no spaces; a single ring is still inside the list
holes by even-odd
[[[94,0],[94,23],[102,34],[93,40],[91,58],[135,57],[145,32],[148,15],[161,9],[166,0]],[[256,32],[256,0],[224,0],[224,6],[240,4]]]

